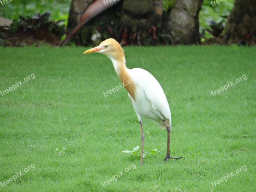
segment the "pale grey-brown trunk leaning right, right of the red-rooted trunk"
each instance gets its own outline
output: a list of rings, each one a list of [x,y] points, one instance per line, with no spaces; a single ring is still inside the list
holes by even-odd
[[[199,44],[198,13],[203,0],[176,0],[169,12],[165,31],[172,44]]]

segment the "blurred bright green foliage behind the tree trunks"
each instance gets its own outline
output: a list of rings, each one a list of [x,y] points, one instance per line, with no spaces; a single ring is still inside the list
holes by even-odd
[[[19,15],[31,16],[35,14],[35,12],[43,13],[51,11],[52,20],[64,19],[64,24],[67,26],[70,2],[71,0],[42,0],[40,2],[30,0],[10,1],[1,7],[0,17],[18,20]],[[175,0],[163,0],[164,11],[169,10],[174,3]],[[219,22],[223,20],[221,15],[229,14],[234,6],[234,0],[223,1],[220,3],[221,6],[212,7],[210,1],[204,1],[201,11],[199,12],[200,31],[202,28],[209,28],[206,19],[213,19]],[[205,33],[205,36],[210,37],[211,35]],[[64,38],[64,36],[62,38]]]

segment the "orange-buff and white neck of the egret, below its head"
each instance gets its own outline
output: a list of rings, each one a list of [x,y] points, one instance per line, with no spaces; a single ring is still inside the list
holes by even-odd
[[[125,58],[118,59],[118,60],[115,60],[113,58],[110,58],[110,59],[113,63],[116,74],[121,80],[121,83],[123,84],[124,88],[135,100],[135,85],[131,76],[129,75],[130,69],[128,69],[125,65]]]

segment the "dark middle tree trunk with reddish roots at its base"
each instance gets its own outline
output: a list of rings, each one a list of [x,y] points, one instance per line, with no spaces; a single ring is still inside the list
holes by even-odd
[[[121,25],[123,45],[156,45],[163,13],[162,0],[124,0]]]

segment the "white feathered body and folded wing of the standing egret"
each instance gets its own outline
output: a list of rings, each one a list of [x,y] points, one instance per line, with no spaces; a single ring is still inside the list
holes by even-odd
[[[171,112],[164,91],[156,78],[141,68],[127,69],[135,83],[136,101],[128,93],[133,108],[142,121],[142,116],[151,119],[162,129],[166,129],[165,120],[171,126]]]

